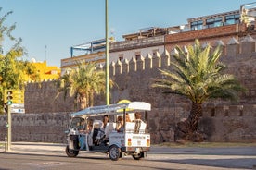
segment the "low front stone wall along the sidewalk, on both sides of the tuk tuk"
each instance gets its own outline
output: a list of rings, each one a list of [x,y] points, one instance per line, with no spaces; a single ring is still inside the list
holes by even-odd
[[[185,118],[185,109],[170,105],[149,113],[152,143],[174,140],[176,122]],[[0,140],[6,136],[6,115],[0,116]],[[68,113],[12,114],[12,141],[67,142]],[[204,107],[199,129],[207,141],[256,142],[256,104]]]

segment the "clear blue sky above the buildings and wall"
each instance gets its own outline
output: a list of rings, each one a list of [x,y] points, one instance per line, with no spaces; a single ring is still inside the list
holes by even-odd
[[[147,27],[170,27],[197,18],[237,10],[249,0],[109,0],[109,36]],[[105,0],[0,0],[0,16],[13,11],[5,24],[16,23],[13,35],[22,38],[28,55],[60,67],[70,46],[105,37]],[[112,33],[110,30],[113,30]],[[4,48],[8,49],[9,42]],[[46,46],[46,48],[45,48]]]

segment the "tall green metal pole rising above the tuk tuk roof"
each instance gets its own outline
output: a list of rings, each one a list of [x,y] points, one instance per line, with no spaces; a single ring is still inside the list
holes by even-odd
[[[109,26],[108,26],[108,0],[105,0],[105,34],[106,34],[106,104],[109,105]]]

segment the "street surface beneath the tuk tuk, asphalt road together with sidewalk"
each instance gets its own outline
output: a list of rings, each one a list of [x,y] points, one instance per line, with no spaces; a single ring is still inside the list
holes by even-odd
[[[106,154],[81,152],[66,156],[65,146],[45,143],[15,143],[12,151],[0,148],[0,169],[256,169],[256,147],[168,148],[151,147],[147,158],[126,156],[111,161]]]

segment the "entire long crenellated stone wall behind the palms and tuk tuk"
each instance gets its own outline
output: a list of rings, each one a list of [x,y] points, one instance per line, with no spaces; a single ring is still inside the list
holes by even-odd
[[[209,141],[256,141],[256,52],[255,41],[246,37],[242,42],[233,39],[224,44],[226,54],[222,61],[228,66],[227,73],[235,74],[248,88],[239,103],[213,100],[204,104],[200,129],[208,134]],[[123,63],[111,63],[110,79],[118,86],[111,90],[110,103],[122,99],[145,101],[152,104],[149,113],[149,132],[153,143],[173,141],[175,124],[189,114],[191,103],[181,96],[164,94],[160,89],[152,89],[154,79],[162,78],[159,68],[170,67],[172,55],[163,54],[141,56],[140,59]],[[67,114],[76,109],[73,97],[56,97],[54,81],[30,83],[25,90],[24,115],[13,115],[13,140],[56,141],[65,140]],[[96,104],[105,104],[104,96],[96,96]],[[36,113],[36,114],[34,114]],[[53,114],[56,113],[56,114]],[[6,115],[0,116],[2,140],[6,134]],[[61,126],[60,126],[61,125]],[[16,132],[18,129],[18,132]]]

